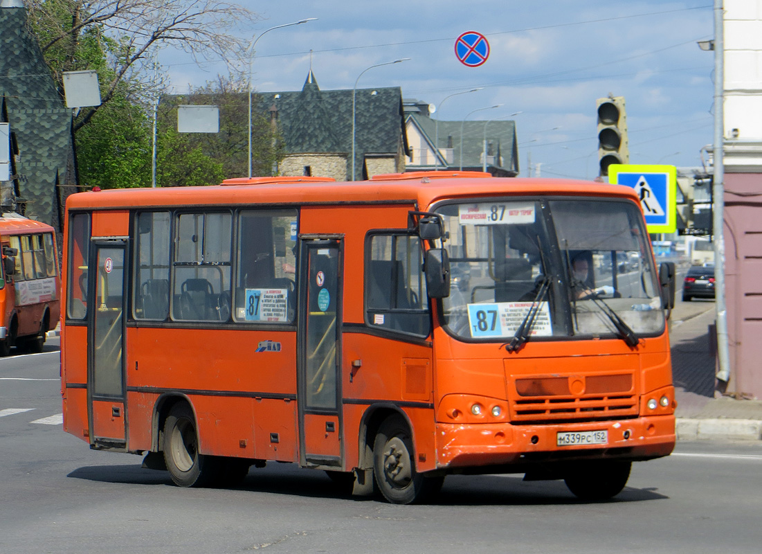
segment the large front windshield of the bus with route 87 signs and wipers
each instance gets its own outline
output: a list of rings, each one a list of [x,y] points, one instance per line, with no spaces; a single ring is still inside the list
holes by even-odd
[[[505,198],[436,211],[450,233],[450,296],[443,299],[450,334],[504,342],[523,326],[532,339],[628,340],[664,330],[636,204]]]

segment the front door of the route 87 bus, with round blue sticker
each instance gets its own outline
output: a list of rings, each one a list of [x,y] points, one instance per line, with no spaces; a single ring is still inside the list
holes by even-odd
[[[299,462],[341,467],[341,240],[303,240],[299,317]]]

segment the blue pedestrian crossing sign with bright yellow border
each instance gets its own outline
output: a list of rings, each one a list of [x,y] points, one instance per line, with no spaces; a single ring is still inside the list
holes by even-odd
[[[635,190],[649,233],[677,230],[677,171],[674,165],[612,164],[609,166],[609,182]]]

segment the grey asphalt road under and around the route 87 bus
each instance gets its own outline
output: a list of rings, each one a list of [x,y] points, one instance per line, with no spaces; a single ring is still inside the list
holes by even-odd
[[[450,476],[433,504],[356,500],[322,473],[186,489],[62,432],[57,339],[0,360],[0,552],[757,552],[762,446],[680,443],[613,501],[562,482]],[[24,411],[21,411],[24,410]]]

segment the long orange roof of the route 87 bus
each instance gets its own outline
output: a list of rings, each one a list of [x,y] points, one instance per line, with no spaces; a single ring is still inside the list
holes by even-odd
[[[210,187],[123,188],[72,194],[69,210],[104,210],[132,207],[207,206],[215,204],[325,204],[325,203],[417,203],[427,207],[438,200],[526,196],[622,197],[638,201],[630,187],[592,181],[546,178],[493,178],[479,172],[419,171],[376,176],[372,181],[249,181]],[[477,173],[478,176],[473,175]],[[441,176],[440,176],[441,175]],[[241,181],[248,181],[242,179]],[[263,182],[264,181],[264,182]]]

